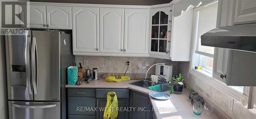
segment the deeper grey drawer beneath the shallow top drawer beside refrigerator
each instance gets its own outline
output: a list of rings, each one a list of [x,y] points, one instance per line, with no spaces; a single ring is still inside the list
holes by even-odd
[[[68,97],[68,114],[96,115],[96,98]]]

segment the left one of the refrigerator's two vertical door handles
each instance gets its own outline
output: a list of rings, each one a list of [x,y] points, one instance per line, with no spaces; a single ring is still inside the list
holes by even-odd
[[[27,75],[27,83],[28,83],[28,90],[29,94],[32,94],[32,87],[31,87],[31,82],[30,82],[30,50],[31,50],[31,41],[30,37],[27,37],[27,67],[26,67],[26,75]]]

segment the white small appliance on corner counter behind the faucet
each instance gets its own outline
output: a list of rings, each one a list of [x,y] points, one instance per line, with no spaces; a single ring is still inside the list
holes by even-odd
[[[165,81],[171,81],[173,75],[173,65],[164,65],[157,64],[156,65],[156,76],[164,77]]]

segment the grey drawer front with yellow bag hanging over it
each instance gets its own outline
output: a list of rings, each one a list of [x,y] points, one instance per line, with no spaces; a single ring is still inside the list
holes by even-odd
[[[96,98],[106,98],[106,94],[110,91],[114,91],[117,94],[117,98],[128,99],[129,89],[96,89]]]

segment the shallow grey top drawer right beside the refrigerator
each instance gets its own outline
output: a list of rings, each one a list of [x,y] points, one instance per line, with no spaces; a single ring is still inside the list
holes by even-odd
[[[95,97],[94,88],[68,88],[68,97]]]

